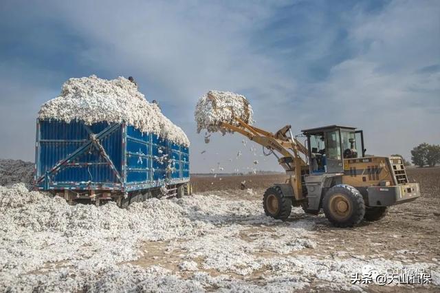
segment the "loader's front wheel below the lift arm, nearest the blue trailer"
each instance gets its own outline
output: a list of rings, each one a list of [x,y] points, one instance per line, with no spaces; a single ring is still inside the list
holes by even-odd
[[[285,197],[278,186],[272,186],[264,193],[263,208],[267,216],[285,221],[292,211],[292,199]]]

